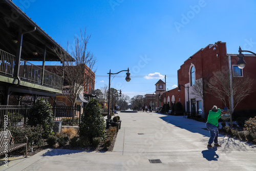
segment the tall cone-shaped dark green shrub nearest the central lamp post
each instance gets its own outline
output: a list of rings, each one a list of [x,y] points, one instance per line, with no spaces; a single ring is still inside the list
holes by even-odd
[[[101,115],[101,106],[97,100],[91,99],[84,108],[79,125],[80,137],[88,137],[92,143],[95,137],[104,137],[105,120]]]

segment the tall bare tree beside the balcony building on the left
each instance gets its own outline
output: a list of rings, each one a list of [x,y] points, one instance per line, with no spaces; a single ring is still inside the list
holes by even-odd
[[[87,50],[87,44],[91,36],[80,29],[80,36],[75,37],[74,45],[71,46],[71,56],[75,61],[67,61],[69,54],[54,48],[53,51],[59,56],[64,67],[64,81],[68,84],[69,94],[66,98],[75,105],[77,96],[82,92],[90,92],[92,90],[90,85],[93,83],[95,77],[94,65],[96,57]],[[69,47],[69,43],[67,49]],[[61,70],[56,69],[57,72]],[[62,73],[61,73],[62,74]]]

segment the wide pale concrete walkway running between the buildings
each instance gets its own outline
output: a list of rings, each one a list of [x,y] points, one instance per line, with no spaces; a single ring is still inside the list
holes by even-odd
[[[118,113],[113,152],[46,149],[0,170],[256,170],[256,146],[220,135],[207,149],[205,123],[157,113]],[[161,163],[156,162],[157,159]]]

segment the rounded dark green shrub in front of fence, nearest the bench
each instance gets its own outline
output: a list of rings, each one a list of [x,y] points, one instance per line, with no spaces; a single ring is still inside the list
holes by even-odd
[[[52,133],[54,125],[54,116],[51,104],[42,98],[37,100],[30,108],[28,124],[31,126],[36,126],[37,124],[42,125],[42,129],[44,130],[43,137],[48,138]]]

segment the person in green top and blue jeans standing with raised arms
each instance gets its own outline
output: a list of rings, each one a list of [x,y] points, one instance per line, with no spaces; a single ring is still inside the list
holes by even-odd
[[[221,109],[217,108],[216,105],[209,111],[209,115],[206,122],[206,127],[210,132],[210,139],[208,141],[207,147],[211,148],[212,142],[214,142],[214,146],[220,147],[221,145],[218,144],[218,136],[219,136],[219,130],[218,130],[218,120],[221,118]]]

